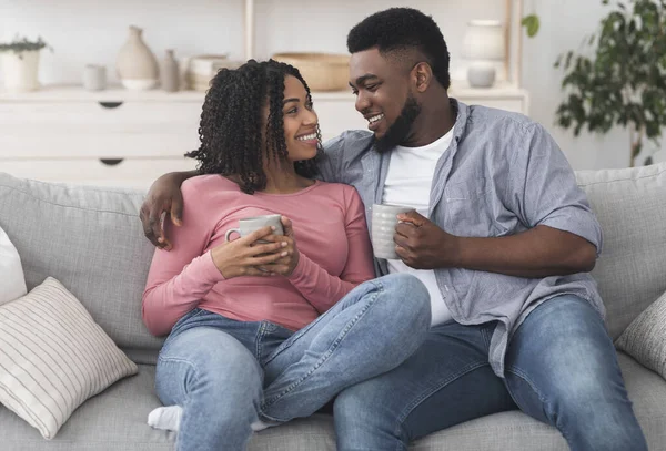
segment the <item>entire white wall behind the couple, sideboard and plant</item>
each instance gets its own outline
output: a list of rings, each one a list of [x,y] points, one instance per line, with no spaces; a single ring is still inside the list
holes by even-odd
[[[461,39],[470,19],[504,19],[504,0],[255,0],[255,57],[280,51],[320,50],[345,53],[349,29],[365,16],[392,6],[410,4],[431,13],[452,54],[452,72],[463,72]],[[555,126],[562,73],[557,55],[577,49],[606,9],[601,0],[525,0],[537,12],[542,29],[525,39],[523,85],[531,93],[531,116],[553,133],[575,168],[624,167],[628,134],[617,130],[603,137],[573,137]],[[114,61],[128,25],[144,29],[155,55],[173,48],[178,55],[229,53],[243,58],[243,0],[0,0],[0,37],[41,34],[54,53],[42,52],[42,83],[79,82],[87,63],[107,65],[117,80]],[[1,76],[1,75],[0,75]],[[354,114],[354,112],[350,112]],[[665,155],[666,156],[666,155]]]

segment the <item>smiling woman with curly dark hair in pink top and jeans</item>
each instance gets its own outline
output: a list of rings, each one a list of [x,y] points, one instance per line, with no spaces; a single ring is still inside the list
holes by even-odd
[[[205,175],[183,184],[182,225],[167,222],[171,250],[155,250],[143,295],[149,330],[169,334],[155,386],[182,408],[179,450],[242,450],[253,424],[315,412],[425,337],[416,278],[362,284],[373,277],[363,204],[312,178],[319,136],[296,69],[250,61],[212,80],[189,154]],[[224,240],[239,219],[274,213],[284,236]]]

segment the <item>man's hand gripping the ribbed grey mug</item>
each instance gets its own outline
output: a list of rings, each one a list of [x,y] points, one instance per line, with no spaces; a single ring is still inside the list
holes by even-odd
[[[416,212],[397,215],[395,252],[405,265],[414,269],[455,266],[460,253],[458,237],[441,229]]]

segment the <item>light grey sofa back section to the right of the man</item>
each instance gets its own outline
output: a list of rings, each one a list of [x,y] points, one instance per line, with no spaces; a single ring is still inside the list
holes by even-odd
[[[613,339],[666,291],[666,163],[653,166],[582,171],[604,232],[596,279]]]

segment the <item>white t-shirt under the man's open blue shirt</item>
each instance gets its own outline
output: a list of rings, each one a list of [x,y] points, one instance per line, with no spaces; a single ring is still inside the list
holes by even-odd
[[[407,205],[428,217],[430,194],[437,160],[451,145],[453,129],[437,141],[422,147],[397,146],[391,153],[391,164],[384,185],[382,203]],[[431,326],[452,320],[448,307],[432,269],[414,269],[403,260],[387,260],[389,273],[408,273],[418,277],[431,296]]]

